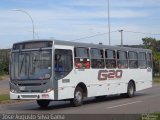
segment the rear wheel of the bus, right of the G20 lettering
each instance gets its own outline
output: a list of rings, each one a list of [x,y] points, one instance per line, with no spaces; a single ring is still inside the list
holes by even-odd
[[[134,93],[135,93],[134,83],[133,82],[129,82],[126,95],[127,95],[128,98],[132,98],[134,96]]]

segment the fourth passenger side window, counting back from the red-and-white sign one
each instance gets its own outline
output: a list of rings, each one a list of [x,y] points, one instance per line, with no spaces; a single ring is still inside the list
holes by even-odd
[[[121,68],[121,69],[128,68],[128,60],[127,60],[126,51],[117,52],[117,66],[118,68]]]

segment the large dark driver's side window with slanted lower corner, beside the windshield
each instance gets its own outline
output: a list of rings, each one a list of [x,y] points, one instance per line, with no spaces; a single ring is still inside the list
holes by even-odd
[[[67,76],[73,69],[72,51],[71,50],[55,50],[55,79],[62,79]]]

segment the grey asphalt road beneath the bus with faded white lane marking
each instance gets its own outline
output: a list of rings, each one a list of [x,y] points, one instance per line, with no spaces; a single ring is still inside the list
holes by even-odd
[[[36,101],[0,105],[0,113],[52,113],[52,114],[142,114],[160,112],[160,85],[137,92],[133,98],[108,96],[98,101],[89,98],[84,105],[72,107],[67,101],[53,101],[47,109],[40,109]]]

